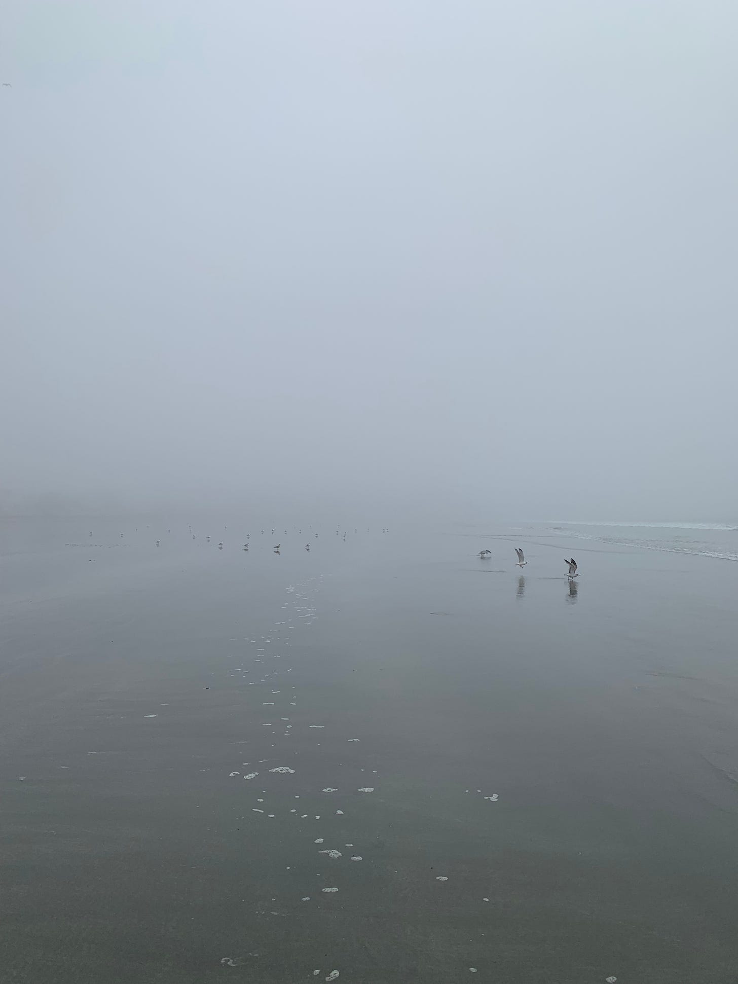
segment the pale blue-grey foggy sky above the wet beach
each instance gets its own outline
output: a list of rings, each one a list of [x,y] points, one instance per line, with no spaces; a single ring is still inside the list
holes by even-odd
[[[734,0],[5,0],[0,486],[738,513]]]

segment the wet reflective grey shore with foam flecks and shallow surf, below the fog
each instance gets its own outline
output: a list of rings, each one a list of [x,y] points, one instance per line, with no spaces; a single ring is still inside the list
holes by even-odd
[[[738,531],[385,530],[0,523],[0,980],[734,984]]]

